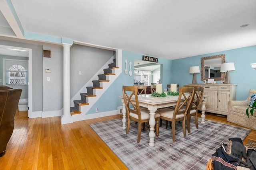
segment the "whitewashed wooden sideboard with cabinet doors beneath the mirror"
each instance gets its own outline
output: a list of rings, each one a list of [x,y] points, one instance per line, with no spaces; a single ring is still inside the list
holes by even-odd
[[[221,115],[228,114],[228,101],[236,100],[237,84],[188,84],[204,87],[206,98],[206,110]],[[198,108],[201,110],[200,106]]]

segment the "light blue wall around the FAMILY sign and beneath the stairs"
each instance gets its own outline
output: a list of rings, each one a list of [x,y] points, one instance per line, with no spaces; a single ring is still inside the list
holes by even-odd
[[[139,53],[133,53],[130,51],[122,51],[122,73],[121,75],[113,82],[113,84],[108,88],[108,90],[102,95],[102,97],[94,104],[94,106],[88,111],[87,114],[96,113],[96,107],[98,107],[99,112],[112,111],[116,110],[117,107],[122,106],[121,99],[118,96],[122,96],[122,86],[133,86],[134,82],[134,73],[132,76],[129,74],[124,74],[125,69],[125,59],[127,59],[127,69],[129,68],[129,62],[132,62],[132,70],[133,70],[133,61],[142,60],[142,55]],[[148,56],[148,55],[146,55]],[[154,57],[154,56],[150,56]],[[158,63],[161,64],[161,83],[163,84],[163,88],[167,88],[167,84],[171,83],[171,69],[172,69],[172,61],[168,59],[162,59],[159,57]]]

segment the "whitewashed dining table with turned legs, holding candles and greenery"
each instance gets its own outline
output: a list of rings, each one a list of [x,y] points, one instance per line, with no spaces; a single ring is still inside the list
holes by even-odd
[[[124,96],[119,96],[121,98],[121,102],[122,102],[122,129],[126,129],[126,105],[124,102]],[[201,123],[204,124],[205,123],[205,104],[206,104],[206,99],[207,96],[202,97],[201,100],[201,111],[202,111],[202,115],[201,115]],[[132,98],[131,100],[135,101],[135,98]],[[146,107],[148,108],[148,110],[150,111],[150,119],[149,119],[149,126],[150,126],[150,132],[148,134],[149,136],[149,143],[148,145],[150,147],[154,147],[155,143],[154,143],[154,139],[155,139],[155,133],[154,133],[154,127],[156,125],[156,120],[155,120],[155,114],[156,114],[156,110],[157,109],[161,109],[164,107],[171,107],[171,106],[176,106],[177,102],[178,102],[178,96],[167,96],[167,97],[155,97],[155,96],[151,96],[151,94],[142,94],[142,95],[138,95],[138,102],[139,105],[142,107]]]

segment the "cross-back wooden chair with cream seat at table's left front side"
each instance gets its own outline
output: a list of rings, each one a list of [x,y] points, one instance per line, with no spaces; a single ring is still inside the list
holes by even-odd
[[[129,133],[130,129],[130,119],[138,122],[138,138],[137,142],[140,143],[141,125],[142,123],[149,122],[150,112],[146,108],[140,108],[138,102],[138,86],[123,86],[122,88],[124,102],[127,110],[127,129],[126,135]],[[158,113],[155,114],[156,119],[156,136],[159,132],[159,117]]]

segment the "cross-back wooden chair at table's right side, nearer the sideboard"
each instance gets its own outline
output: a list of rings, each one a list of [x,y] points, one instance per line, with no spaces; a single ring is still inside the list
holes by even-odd
[[[204,87],[202,86],[193,86],[193,85],[185,85],[186,87],[194,87],[195,89],[195,97],[194,100],[191,104],[191,107],[188,109],[188,114],[187,114],[187,129],[188,129],[188,133],[190,133],[190,117],[194,116],[195,117],[195,123],[196,123],[196,129],[198,129],[198,120],[197,120],[197,116],[198,116],[198,107],[201,103],[203,94],[204,94]],[[184,86],[184,87],[185,87]]]

